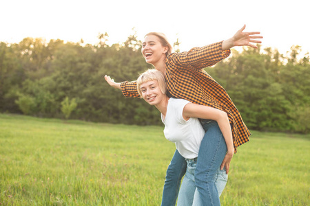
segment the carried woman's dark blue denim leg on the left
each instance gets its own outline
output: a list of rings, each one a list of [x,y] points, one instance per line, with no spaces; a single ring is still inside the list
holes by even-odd
[[[162,206],[176,205],[180,182],[186,172],[186,164],[185,158],[178,153],[178,150],[176,150],[167,169],[165,185],[163,188],[163,199],[161,201]]]

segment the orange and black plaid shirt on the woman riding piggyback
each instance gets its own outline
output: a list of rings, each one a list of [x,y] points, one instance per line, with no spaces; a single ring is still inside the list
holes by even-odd
[[[169,54],[165,60],[167,95],[225,111],[229,122],[233,124],[234,148],[237,152],[238,146],[249,141],[249,129],[225,89],[203,69],[229,56],[230,50],[222,52],[222,43]],[[140,98],[135,81],[122,82],[121,90],[125,97]]]

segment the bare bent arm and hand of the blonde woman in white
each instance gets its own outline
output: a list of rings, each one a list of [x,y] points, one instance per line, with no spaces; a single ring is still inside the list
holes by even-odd
[[[227,113],[217,108],[189,103],[186,104],[183,109],[183,117],[184,119],[188,119],[190,117],[212,119],[218,122],[218,126],[220,127],[220,131],[224,136],[227,146],[227,154],[223,160],[223,163],[220,165],[220,169],[223,170],[225,166],[226,173],[228,174],[230,167],[229,164],[234,156],[234,143]]]

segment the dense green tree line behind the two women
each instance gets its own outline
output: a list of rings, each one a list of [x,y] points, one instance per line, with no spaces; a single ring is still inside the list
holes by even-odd
[[[154,106],[104,80],[136,80],[152,68],[141,55],[136,34],[124,43],[107,45],[100,34],[96,45],[62,40],[24,38],[0,43],[0,111],[37,117],[83,119],[138,125],[161,125]],[[178,41],[174,43],[178,46]],[[301,47],[287,55],[277,49],[232,49],[229,58],[205,68],[229,93],[250,129],[309,133],[309,54]]]

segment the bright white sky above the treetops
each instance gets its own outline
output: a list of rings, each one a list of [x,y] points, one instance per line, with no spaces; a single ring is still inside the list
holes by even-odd
[[[180,50],[222,41],[242,25],[261,32],[262,47],[286,54],[292,45],[310,52],[309,0],[10,0],[0,2],[0,41],[25,37],[85,43],[123,43],[133,34],[163,32]]]

